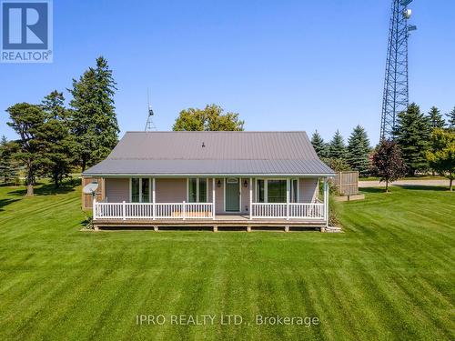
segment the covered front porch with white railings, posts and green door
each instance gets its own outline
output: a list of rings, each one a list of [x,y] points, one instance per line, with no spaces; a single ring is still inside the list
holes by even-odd
[[[328,177],[132,176],[103,187],[93,200],[96,226],[328,225]]]

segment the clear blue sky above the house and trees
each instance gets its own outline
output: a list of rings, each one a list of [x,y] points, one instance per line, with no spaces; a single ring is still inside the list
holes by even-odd
[[[246,130],[315,130],[379,139],[391,0],[55,0],[54,62],[0,64],[5,109],[63,91],[103,55],[114,72],[121,129],[144,130],[147,88],[158,130],[188,107],[221,105]],[[455,106],[455,1],[415,0],[410,101]]]

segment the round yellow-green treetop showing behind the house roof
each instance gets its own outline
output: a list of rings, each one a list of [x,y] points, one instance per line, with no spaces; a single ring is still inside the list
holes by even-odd
[[[174,131],[242,131],[245,121],[236,113],[223,114],[218,105],[206,105],[204,109],[182,110],[172,126]]]

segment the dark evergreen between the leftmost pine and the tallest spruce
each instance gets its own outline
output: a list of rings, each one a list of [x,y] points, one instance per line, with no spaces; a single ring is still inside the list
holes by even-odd
[[[64,103],[64,95],[56,90],[45,96],[41,105],[45,111],[45,126],[38,135],[43,140],[45,153],[50,160],[46,173],[51,176],[56,187],[69,174],[76,149]]]

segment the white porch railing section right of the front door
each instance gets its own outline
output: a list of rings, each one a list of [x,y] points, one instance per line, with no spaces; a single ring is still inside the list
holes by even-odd
[[[325,219],[323,203],[252,203],[251,217],[254,218],[285,218],[285,219]]]

